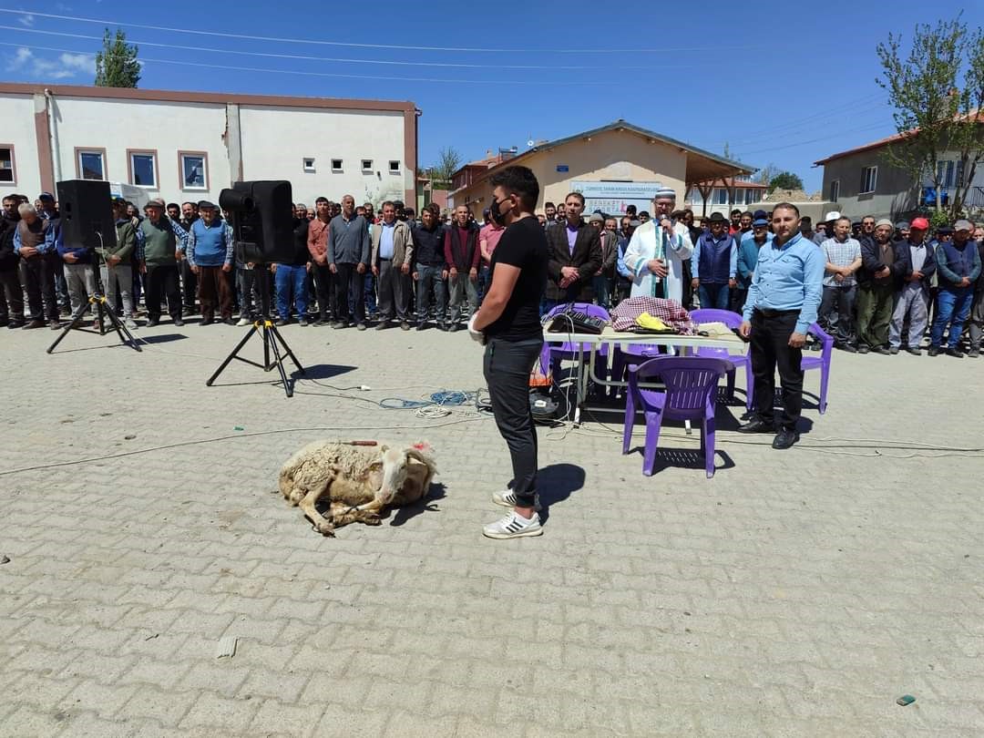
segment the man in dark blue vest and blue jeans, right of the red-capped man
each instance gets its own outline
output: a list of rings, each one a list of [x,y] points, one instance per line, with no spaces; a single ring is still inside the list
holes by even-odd
[[[959,349],[960,335],[974,299],[974,282],[981,275],[977,244],[970,240],[972,226],[968,220],[960,220],[958,224],[960,227],[953,233],[953,239],[941,239],[936,247],[940,294],[937,295],[936,319],[930,331],[930,356],[940,353],[943,332],[949,324],[947,355],[963,358]]]

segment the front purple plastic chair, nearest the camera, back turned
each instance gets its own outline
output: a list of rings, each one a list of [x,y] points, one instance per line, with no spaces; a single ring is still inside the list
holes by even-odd
[[[629,392],[625,401],[625,430],[622,453],[628,454],[632,444],[632,428],[636,422],[636,407],[646,416],[646,447],[643,453],[643,473],[651,476],[656,465],[656,445],[663,418],[692,420],[701,423],[701,451],[707,478],[714,475],[714,410],[717,383],[721,375],[734,367],[725,359],[704,356],[659,356],[640,365],[629,367]],[[659,377],[665,392],[646,390],[639,386]]]

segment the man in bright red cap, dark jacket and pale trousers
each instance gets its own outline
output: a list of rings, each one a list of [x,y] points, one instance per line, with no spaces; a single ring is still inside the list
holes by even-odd
[[[929,282],[936,272],[933,249],[926,244],[928,230],[929,221],[925,217],[917,217],[909,225],[908,238],[898,242],[901,245],[900,255],[903,259],[907,257],[907,263],[889,326],[889,351],[892,353],[898,353],[902,344],[902,326],[906,316],[909,318],[909,335],[905,350],[914,356],[922,353],[920,344],[926,333],[929,315]]]

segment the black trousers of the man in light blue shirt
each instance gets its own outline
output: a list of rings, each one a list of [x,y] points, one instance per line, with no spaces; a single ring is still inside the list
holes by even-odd
[[[789,345],[799,311],[752,314],[752,374],[755,376],[755,411],[767,423],[775,422],[775,369],[782,386],[782,412],[776,429],[796,430],[803,409],[803,351]]]

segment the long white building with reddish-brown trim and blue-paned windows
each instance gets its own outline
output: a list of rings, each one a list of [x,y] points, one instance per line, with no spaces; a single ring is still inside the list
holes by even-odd
[[[285,179],[296,202],[413,203],[412,102],[0,84],[0,195],[104,179],[167,202]]]

